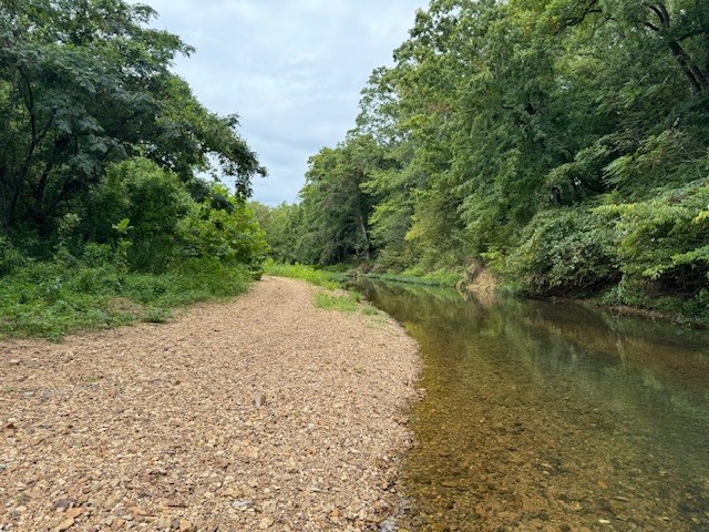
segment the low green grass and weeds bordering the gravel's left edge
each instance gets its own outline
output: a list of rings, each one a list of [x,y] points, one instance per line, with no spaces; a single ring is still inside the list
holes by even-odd
[[[59,340],[79,330],[163,323],[177,307],[233,297],[250,282],[244,268],[213,259],[185,260],[160,275],[28,262],[0,277],[0,339]]]

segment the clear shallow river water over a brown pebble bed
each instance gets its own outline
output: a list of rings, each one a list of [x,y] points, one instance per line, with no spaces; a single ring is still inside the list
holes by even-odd
[[[399,530],[709,531],[709,331],[358,289],[424,360]]]

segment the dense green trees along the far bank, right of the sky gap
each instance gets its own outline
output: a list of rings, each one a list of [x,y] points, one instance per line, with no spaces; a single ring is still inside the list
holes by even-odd
[[[277,258],[709,317],[709,2],[433,0],[263,209]]]

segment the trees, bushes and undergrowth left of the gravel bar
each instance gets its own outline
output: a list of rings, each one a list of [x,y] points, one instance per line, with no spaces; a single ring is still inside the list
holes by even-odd
[[[260,270],[246,200],[266,171],[237,116],[171,72],[192,49],[151,29],[155,16],[123,0],[0,0],[0,336],[129,319]]]

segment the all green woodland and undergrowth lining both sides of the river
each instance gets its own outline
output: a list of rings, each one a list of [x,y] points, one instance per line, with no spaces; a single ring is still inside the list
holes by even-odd
[[[707,0],[432,0],[277,207],[150,7],[0,9],[0,336],[162,320],[269,254],[709,320]]]

